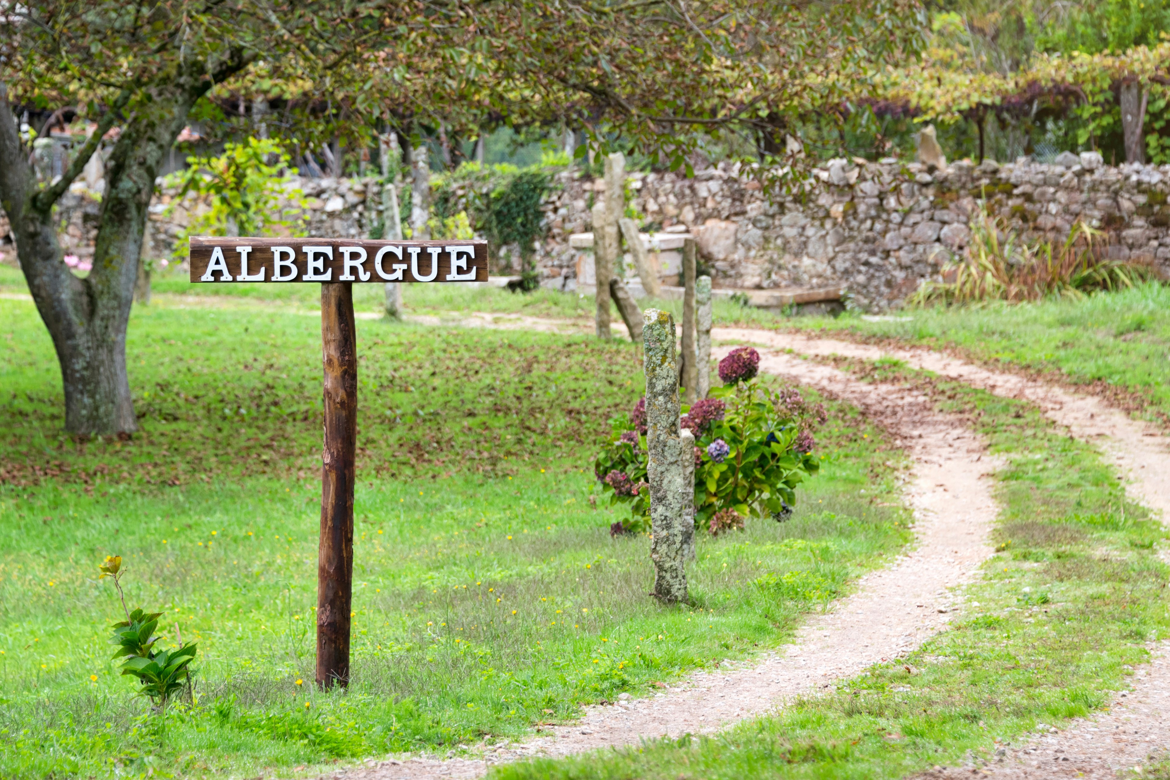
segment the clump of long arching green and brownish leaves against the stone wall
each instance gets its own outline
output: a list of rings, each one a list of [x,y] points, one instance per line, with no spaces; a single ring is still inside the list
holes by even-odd
[[[942,282],[924,281],[907,304],[1083,298],[1097,290],[1129,289],[1154,275],[1149,263],[1107,255],[1103,234],[1083,222],[1073,226],[1062,244],[1028,243],[984,207],[971,223],[971,241],[963,256],[943,267]]]

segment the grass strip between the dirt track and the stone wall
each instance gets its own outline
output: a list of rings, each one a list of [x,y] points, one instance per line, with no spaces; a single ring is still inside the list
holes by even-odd
[[[0,292],[25,291],[20,271],[0,265]],[[163,305],[179,296],[223,299],[225,306],[319,308],[319,291],[310,284],[199,284],[167,274],[153,282]],[[355,288],[359,311],[381,310],[381,288]],[[593,316],[592,297],[539,290],[517,295],[498,289],[467,289],[454,284],[408,285],[404,302],[411,313],[442,315],[464,311],[517,313],[586,324]],[[682,316],[681,301],[642,301]],[[992,303],[894,312],[893,318],[863,319],[860,312],[840,317],[785,317],[716,299],[716,325],[769,330],[818,330],[862,339],[896,339],[931,347],[957,348],[977,360],[1000,363],[1059,375],[1076,384],[1117,388],[1123,406],[1150,419],[1170,421],[1170,288],[1157,283],[1133,290],[1097,294],[1082,299],[1051,299],[1035,304]],[[620,322],[617,310],[614,322]]]

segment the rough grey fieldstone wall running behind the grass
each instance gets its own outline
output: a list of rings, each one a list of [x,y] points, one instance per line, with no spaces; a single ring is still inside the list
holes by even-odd
[[[840,287],[855,305],[886,310],[921,279],[938,278],[942,264],[963,250],[984,196],[990,210],[1023,234],[1060,239],[1083,220],[1109,232],[1115,256],[1147,258],[1170,275],[1170,166],[1110,167],[1093,152],[1065,153],[1052,165],[958,161],[932,173],[894,159],[833,160],[797,193],[771,198],[727,164],[691,179],[632,173],[627,180],[629,206],[645,226],[696,236],[716,288]],[[372,180],[304,179],[292,186],[309,196],[311,235],[365,235],[376,216],[365,202],[367,188],[377,193]],[[576,289],[586,257],[570,236],[591,229],[590,207],[601,187],[600,179],[573,170],[555,177],[548,233],[537,247],[545,287]],[[400,198],[408,196],[404,187]],[[151,206],[151,256],[166,256],[187,215],[202,207],[190,195],[181,203],[173,199],[164,192]],[[67,253],[92,253],[98,208],[83,187],[62,200]],[[495,272],[516,270],[515,255],[505,248]]]

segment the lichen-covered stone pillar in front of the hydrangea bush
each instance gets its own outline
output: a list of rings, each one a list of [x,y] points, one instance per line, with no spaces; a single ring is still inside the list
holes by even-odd
[[[654,592],[663,603],[687,601],[683,566],[684,502],[694,493],[684,483],[683,439],[679,429],[679,373],[674,361],[674,317],[647,309],[642,313],[646,370],[646,447],[649,450],[647,479],[651,491],[651,561]],[[693,450],[686,451],[693,458]],[[694,520],[691,520],[694,525]]]

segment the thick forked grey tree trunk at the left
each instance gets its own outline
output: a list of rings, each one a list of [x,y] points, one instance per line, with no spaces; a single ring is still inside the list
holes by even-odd
[[[201,63],[192,63],[166,87],[150,90],[150,99],[137,103],[122,123],[105,164],[94,268],[84,279],[64,264],[53,206],[81,174],[88,157],[78,153],[56,185],[39,187],[20,144],[7,87],[0,83],[0,205],[8,214],[25,281],[61,364],[66,429],[73,434],[126,434],[138,428],[126,377],[126,323],[154,178],[194,102],[247,62],[240,53],[229,54],[213,78]],[[113,116],[108,113],[95,132],[104,133]]]

